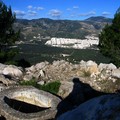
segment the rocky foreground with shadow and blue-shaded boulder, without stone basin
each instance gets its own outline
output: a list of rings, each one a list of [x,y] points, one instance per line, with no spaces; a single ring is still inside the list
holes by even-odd
[[[2,92],[19,86],[19,81],[33,78],[41,85],[56,80],[61,82],[57,96],[61,97],[62,101],[58,104],[58,112],[54,116],[59,120],[120,118],[120,68],[112,63],[98,65],[89,60],[72,64],[61,60],[50,64],[45,61],[25,69],[0,64]]]

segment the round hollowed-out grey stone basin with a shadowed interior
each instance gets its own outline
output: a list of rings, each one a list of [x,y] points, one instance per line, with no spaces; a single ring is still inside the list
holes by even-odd
[[[19,104],[15,104],[16,100]],[[60,102],[58,97],[34,87],[11,87],[0,94],[0,115],[5,120],[52,120]],[[12,103],[14,104],[11,105]],[[33,108],[30,104],[36,107]]]

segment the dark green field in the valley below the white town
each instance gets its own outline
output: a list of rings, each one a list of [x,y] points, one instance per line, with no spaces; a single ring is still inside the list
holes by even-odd
[[[79,63],[81,60],[93,60],[99,63],[108,63],[110,59],[104,57],[99,50],[93,49],[65,49],[44,45],[43,42],[34,44],[18,45],[20,54],[16,59],[25,59],[31,64],[42,61],[53,62],[54,60],[67,60],[72,63]],[[69,55],[64,57],[63,54]]]

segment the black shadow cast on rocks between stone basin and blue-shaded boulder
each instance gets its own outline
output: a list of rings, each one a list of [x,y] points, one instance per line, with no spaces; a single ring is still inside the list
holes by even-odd
[[[74,86],[72,92],[63,99],[57,107],[58,112],[56,118],[61,114],[76,108],[87,100],[107,94],[94,90],[89,84],[81,82],[79,78],[74,78],[73,83]]]

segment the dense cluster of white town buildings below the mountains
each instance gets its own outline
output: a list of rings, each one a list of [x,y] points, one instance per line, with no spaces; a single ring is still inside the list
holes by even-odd
[[[45,44],[62,48],[86,49],[98,45],[99,39],[95,36],[86,36],[85,39],[51,38]]]

